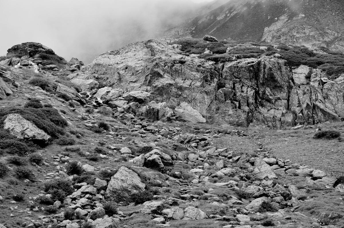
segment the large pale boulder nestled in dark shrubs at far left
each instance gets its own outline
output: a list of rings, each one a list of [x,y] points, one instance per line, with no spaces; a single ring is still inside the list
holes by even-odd
[[[8,114],[4,120],[4,129],[19,139],[30,139],[47,142],[50,136],[19,114]]]

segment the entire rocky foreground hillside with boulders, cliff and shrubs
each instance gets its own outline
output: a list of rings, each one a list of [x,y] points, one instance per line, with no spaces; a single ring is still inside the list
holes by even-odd
[[[154,39],[84,66],[50,50],[1,57],[0,228],[344,226],[341,53]]]

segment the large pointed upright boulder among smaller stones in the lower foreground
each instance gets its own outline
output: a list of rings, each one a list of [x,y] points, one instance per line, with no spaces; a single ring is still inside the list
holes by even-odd
[[[132,194],[144,191],[145,186],[134,171],[122,166],[111,177],[105,192],[105,198],[116,202],[130,202]]]

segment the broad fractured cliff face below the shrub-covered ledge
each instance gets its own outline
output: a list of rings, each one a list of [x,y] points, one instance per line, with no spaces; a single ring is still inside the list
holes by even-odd
[[[341,121],[344,75],[329,80],[321,70],[291,69],[274,57],[216,64],[184,56],[172,39],[137,42],[106,52],[85,68],[104,86],[146,91],[175,109],[190,104],[208,123],[274,128]]]

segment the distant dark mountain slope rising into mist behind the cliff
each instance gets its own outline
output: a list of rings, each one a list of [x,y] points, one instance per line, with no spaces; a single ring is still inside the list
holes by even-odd
[[[203,10],[166,36],[202,38],[208,34],[219,39],[324,46],[343,52],[343,9],[341,0],[231,0],[214,10]]]

